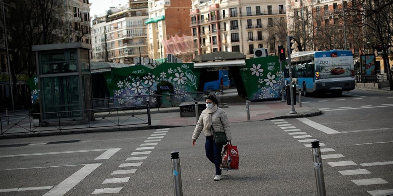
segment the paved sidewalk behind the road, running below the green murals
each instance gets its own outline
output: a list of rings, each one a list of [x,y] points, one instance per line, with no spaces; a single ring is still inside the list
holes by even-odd
[[[236,89],[227,89],[223,94],[224,105],[223,110],[228,115],[230,123],[235,122],[248,122],[246,113],[246,102],[244,98],[237,95]],[[219,104],[220,107],[220,104]],[[249,103],[250,108],[250,121],[260,121],[269,119],[279,118],[299,118],[316,116],[321,114],[321,111],[310,107],[299,107],[299,103],[295,105],[296,114],[289,114],[291,111],[291,105],[287,105],[286,102],[281,100],[265,101],[265,102],[251,102]],[[132,111],[131,111],[132,112]],[[147,111],[140,111],[138,118],[147,122]],[[133,119],[129,118],[130,114],[120,116],[123,120],[131,122]],[[100,117],[96,118],[99,119]],[[109,117],[108,117],[109,118]],[[115,117],[113,117],[115,118]],[[117,117],[116,117],[117,118]],[[101,120],[96,122],[97,124],[105,125],[107,121]],[[86,133],[86,132],[109,132],[109,131],[132,131],[132,130],[143,130],[143,129],[160,129],[168,127],[182,127],[182,126],[195,126],[196,117],[180,117],[179,107],[168,107],[168,108],[152,108],[151,109],[151,124],[140,124],[140,125],[125,125],[120,127],[101,127],[101,128],[88,128],[86,125],[68,125],[73,127],[72,130],[62,131],[45,131],[50,127],[39,127],[37,131],[33,132],[20,132],[21,130],[14,129],[13,131],[7,131],[8,134],[0,135],[0,139],[6,138],[22,138],[22,137],[34,137],[34,136],[49,136],[49,135],[61,135],[61,134],[75,134],[75,133]],[[4,128],[4,127],[3,127]],[[53,127],[52,127],[53,128]],[[23,128],[20,128],[23,129]],[[193,129],[193,127],[187,127],[185,129]],[[23,130],[26,131],[26,130]],[[15,132],[15,133],[13,133]]]

